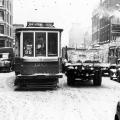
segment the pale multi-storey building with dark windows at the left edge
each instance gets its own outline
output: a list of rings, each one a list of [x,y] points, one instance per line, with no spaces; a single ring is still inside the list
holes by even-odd
[[[0,47],[13,46],[13,0],[0,0]]]

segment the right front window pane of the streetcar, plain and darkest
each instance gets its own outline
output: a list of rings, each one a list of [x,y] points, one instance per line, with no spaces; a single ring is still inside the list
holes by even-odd
[[[58,55],[58,34],[48,33],[48,56]]]

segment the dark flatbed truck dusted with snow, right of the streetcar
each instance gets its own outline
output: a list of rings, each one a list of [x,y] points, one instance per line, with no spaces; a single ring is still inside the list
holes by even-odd
[[[75,81],[86,82],[93,80],[95,86],[101,86],[102,75],[99,61],[86,60],[83,63],[69,65],[67,71],[67,84],[74,85]]]

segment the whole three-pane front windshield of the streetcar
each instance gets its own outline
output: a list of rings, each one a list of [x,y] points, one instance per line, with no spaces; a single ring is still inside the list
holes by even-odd
[[[58,33],[23,32],[23,56],[58,56]]]

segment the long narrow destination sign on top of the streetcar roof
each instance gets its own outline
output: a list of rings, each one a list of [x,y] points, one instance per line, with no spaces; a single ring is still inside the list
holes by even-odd
[[[53,22],[27,22],[27,27],[54,27]]]

